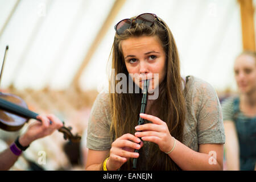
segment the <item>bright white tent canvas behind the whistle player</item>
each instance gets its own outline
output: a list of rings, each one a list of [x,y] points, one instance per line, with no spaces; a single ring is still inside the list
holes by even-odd
[[[67,89],[114,2],[0,0],[0,63],[9,45],[1,87]],[[126,0],[81,75],[83,90],[106,83],[114,24],[146,12],[171,28],[183,75],[200,77],[216,90],[236,89],[233,62],[242,51],[237,0]]]

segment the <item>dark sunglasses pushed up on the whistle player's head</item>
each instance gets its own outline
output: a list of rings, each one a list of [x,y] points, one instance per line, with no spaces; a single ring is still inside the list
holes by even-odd
[[[122,34],[126,29],[131,28],[133,21],[135,21],[135,23],[144,23],[148,26],[152,26],[152,24],[155,23],[155,18],[160,22],[158,17],[152,13],[143,13],[134,19],[123,19],[115,25],[115,31],[118,35]]]

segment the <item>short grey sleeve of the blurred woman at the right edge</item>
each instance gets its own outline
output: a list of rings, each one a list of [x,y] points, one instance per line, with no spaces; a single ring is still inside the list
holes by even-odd
[[[221,104],[223,121],[233,121],[233,98],[226,98]]]

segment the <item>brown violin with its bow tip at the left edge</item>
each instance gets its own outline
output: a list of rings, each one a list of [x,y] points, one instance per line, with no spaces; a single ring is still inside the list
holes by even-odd
[[[8,46],[6,46],[6,52],[8,51]],[[5,57],[6,57],[5,52]],[[3,65],[5,63],[5,57],[3,59]],[[0,80],[2,77],[2,70]],[[36,117],[37,113],[34,113],[31,110],[28,110],[27,104],[22,98],[15,96],[14,94],[2,93],[0,92],[0,128],[6,131],[18,131],[23,127],[25,123],[28,122],[29,119],[36,119],[39,122],[39,119]],[[51,125],[50,121],[50,125]],[[69,139],[71,142],[79,142],[81,137],[76,134],[73,135],[71,133],[72,127],[65,127],[63,122],[63,127],[61,127],[58,131],[64,134],[64,139]]]

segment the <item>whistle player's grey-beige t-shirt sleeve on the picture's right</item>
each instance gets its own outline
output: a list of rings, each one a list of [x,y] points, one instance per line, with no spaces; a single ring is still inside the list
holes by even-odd
[[[214,88],[205,81],[196,83],[193,98],[197,105],[197,138],[199,144],[225,143],[220,101]]]

